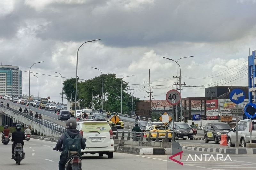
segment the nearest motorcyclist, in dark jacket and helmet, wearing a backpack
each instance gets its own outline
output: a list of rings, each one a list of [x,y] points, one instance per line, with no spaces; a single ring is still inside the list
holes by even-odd
[[[76,121],[74,119],[68,119],[68,121],[66,122],[66,126],[67,126],[66,132],[68,133],[69,136],[76,136],[80,133],[79,130],[76,130]],[[81,148],[85,149],[85,140],[81,134],[79,135],[79,138],[81,138],[81,143],[80,143]],[[57,142],[53,150],[58,151],[61,149],[63,145],[63,151],[64,151],[66,147],[66,139],[67,139],[67,136],[65,134],[62,134],[62,136],[60,137],[59,141]],[[60,155],[59,170],[65,169],[65,164],[67,159],[68,159],[68,155],[65,152],[62,152]]]

